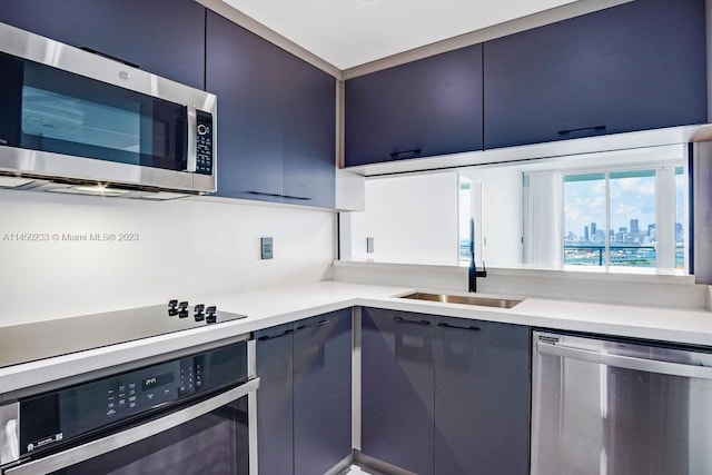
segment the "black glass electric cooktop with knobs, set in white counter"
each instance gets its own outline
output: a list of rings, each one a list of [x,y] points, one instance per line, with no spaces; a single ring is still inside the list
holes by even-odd
[[[246,318],[214,306],[166,305],[0,327],[0,368]]]

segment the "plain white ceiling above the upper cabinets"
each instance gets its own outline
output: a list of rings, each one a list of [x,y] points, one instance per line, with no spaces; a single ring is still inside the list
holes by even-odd
[[[224,0],[345,70],[576,0]]]

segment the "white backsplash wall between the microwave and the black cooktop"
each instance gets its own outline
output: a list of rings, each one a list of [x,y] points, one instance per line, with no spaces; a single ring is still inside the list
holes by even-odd
[[[335,220],[245,201],[0,190],[0,326],[329,278]],[[12,240],[23,232],[50,240]],[[139,240],[63,239],[93,232]],[[273,260],[259,258],[263,236]]]

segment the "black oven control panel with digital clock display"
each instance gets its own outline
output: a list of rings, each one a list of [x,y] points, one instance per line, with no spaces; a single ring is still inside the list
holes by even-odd
[[[247,342],[102,377],[20,400],[28,454],[248,378]]]

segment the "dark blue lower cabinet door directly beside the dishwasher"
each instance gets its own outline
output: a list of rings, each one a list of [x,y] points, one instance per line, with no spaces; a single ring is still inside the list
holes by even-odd
[[[435,474],[528,474],[528,327],[437,317],[434,350]]]

